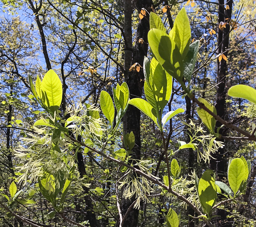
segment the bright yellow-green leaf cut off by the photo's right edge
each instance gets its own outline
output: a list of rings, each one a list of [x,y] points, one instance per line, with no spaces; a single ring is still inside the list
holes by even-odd
[[[256,90],[248,85],[238,84],[232,86],[227,94],[231,97],[247,99],[256,104]]]

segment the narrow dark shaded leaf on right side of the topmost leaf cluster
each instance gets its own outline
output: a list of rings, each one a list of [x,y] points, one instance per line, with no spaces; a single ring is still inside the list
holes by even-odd
[[[184,59],[184,78],[188,81],[188,85],[190,85],[191,75],[197,61],[198,49],[199,40],[190,44],[187,55]]]

